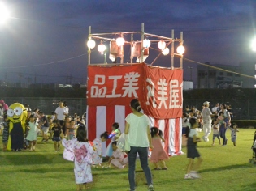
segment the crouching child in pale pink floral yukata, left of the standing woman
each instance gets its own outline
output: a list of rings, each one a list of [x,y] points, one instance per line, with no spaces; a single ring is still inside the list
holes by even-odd
[[[116,144],[117,142],[112,142],[113,155],[110,163],[119,169],[124,169],[125,165],[128,164],[128,157],[124,151],[119,150]]]

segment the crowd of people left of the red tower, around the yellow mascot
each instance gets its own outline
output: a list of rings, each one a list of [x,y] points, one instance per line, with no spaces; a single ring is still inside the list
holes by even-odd
[[[65,137],[71,140],[76,137],[76,129],[80,125],[85,128],[85,116],[79,116],[76,113],[70,115],[67,103],[63,100],[59,101],[59,106],[48,116],[39,108],[30,108],[29,104],[24,104],[24,108],[26,110],[24,144],[19,149],[11,148],[13,151],[21,151],[21,149],[35,151],[37,136],[41,134],[42,142],[48,142],[49,139],[54,141],[54,151],[57,152],[61,141],[60,130],[63,130]],[[7,149],[10,133],[7,111],[8,105],[0,100],[0,124],[2,126],[0,133],[4,151]]]

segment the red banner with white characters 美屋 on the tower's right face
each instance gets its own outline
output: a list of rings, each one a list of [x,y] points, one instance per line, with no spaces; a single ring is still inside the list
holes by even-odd
[[[144,94],[141,106],[145,114],[170,119],[182,117],[183,70],[144,67]]]

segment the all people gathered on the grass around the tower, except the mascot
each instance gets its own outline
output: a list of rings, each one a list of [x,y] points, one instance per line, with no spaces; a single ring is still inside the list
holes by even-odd
[[[4,126],[2,134],[3,149],[6,149],[8,141],[8,117],[7,106],[3,107],[0,101],[0,115]],[[128,181],[130,190],[135,190],[135,168],[136,159],[139,155],[141,168],[145,172],[149,190],[154,190],[151,170],[148,160],[154,163],[154,170],[167,170],[165,160],[169,159],[167,152],[163,149],[163,132],[158,127],[150,127],[149,118],[141,112],[141,105],[137,99],[130,103],[132,113],[128,114],[125,121],[125,129],[122,133],[119,124],[114,122],[112,132],[102,132],[100,138],[95,138],[92,142],[87,139],[87,130],[84,116],[76,113],[70,115],[67,103],[59,101],[59,107],[46,116],[38,108],[33,110],[28,104],[24,104],[27,111],[24,149],[35,151],[37,145],[37,135],[41,134],[41,142],[48,142],[51,139],[54,144],[54,151],[60,151],[60,145],[64,146],[64,152],[72,155],[69,159],[75,163],[76,189],[86,189],[86,183],[93,181],[91,166],[103,167],[102,142],[111,139],[111,143],[106,149],[107,168],[114,167],[124,169],[128,165]],[[187,138],[187,157],[189,165],[184,179],[198,178],[197,173],[202,163],[202,157],[197,151],[197,142],[201,140],[209,142],[211,130],[213,130],[212,145],[215,145],[215,138],[223,139],[222,145],[227,145],[226,130],[231,130],[231,141],[236,146],[237,125],[232,124],[232,111],[225,104],[216,104],[214,108],[209,108],[208,101],[203,103],[202,110],[195,107],[184,109],[182,117],[182,134]],[[4,110],[5,109],[5,110]],[[198,137],[198,132],[203,129],[204,135]],[[124,144],[128,144],[128,149],[122,149],[119,145],[120,137],[124,137]],[[123,144],[123,145],[124,145]],[[14,150],[20,151],[20,150]],[[149,157],[150,151],[150,157]],[[194,159],[197,158],[197,163]],[[64,158],[65,159],[65,158]]]

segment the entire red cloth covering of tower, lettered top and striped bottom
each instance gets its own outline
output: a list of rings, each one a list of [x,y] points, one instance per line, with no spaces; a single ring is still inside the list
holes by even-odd
[[[125,117],[132,112],[132,98],[138,98],[150,126],[163,131],[164,148],[170,155],[181,153],[183,70],[143,64],[88,66],[87,126],[89,140],[111,133],[119,123],[124,132]],[[103,151],[110,141],[103,143]]]

